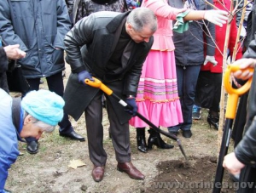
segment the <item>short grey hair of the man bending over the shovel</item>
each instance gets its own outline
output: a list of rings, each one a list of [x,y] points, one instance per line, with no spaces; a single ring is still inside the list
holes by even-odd
[[[135,31],[142,31],[144,26],[149,26],[152,32],[157,30],[157,19],[154,12],[148,8],[136,8],[127,17]]]

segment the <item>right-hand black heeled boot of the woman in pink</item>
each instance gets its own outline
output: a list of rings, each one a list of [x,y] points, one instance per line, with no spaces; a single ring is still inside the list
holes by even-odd
[[[148,150],[152,150],[153,145],[156,145],[160,149],[172,149],[174,147],[173,145],[166,144],[166,142],[161,139],[160,133],[155,132],[153,128],[150,128],[148,133],[150,134],[148,138]]]

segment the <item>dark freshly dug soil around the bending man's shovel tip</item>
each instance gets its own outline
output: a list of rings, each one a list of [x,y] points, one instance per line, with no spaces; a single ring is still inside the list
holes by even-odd
[[[157,165],[157,175],[145,192],[207,193],[212,192],[217,158],[212,156],[189,157],[188,161],[170,160]],[[234,192],[233,183],[224,173],[222,192]]]

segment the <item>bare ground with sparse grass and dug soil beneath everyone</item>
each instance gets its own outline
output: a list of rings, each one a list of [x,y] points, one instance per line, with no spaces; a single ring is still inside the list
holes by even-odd
[[[68,67],[67,65],[65,82],[70,73]],[[45,83],[44,79],[41,88],[47,88]],[[146,154],[139,152],[136,129],[130,128],[131,159],[146,176],[145,180],[130,179],[126,173],[117,171],[112,141],[108,136],[108,116],[105,109],[103,112],[103,145],[108,153],[108,161],[102,182],[96,183],[91,178],[92,163],[87,140],[79,142],[62,138],[56,128],[53,133],[44,134],[39,140],[38,154],[28,154],[26,144],[20,143],[20,156],[9,169],[5,189],[15,193],[212,192],[211,185],[215,178],[218,159],[218,131],[208,126],[207,110],[202,111],[201,120],[193,122],[193,136],[190,139],[183,138],[181,133],[178,134],[188,161],[185,160],[177,142],[165,136],[162,138],[175,146],[172,150],[160,150],[154,146],[154,149]],[[72,118],[71,121],[76,132],[86,137],[84,116],[78,122]],[[148,138],[148,133],[146,135]],[[230,143],[230,147],[232,146]],[[85,165],[76,169],[68,167],[73,160],[80,160]],[[229,185],[222,192],[235,192],[226,173],[224,182]]]

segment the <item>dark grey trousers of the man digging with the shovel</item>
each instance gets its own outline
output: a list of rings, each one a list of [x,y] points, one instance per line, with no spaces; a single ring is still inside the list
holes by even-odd
[[[117,162],[131,162],[130,131],[129,122],[119,123],[119,119],[113,111],[113,105],[107,99],[108,119],[110,133],[112,135],[113,148]],[[90,161],[95,166],[105,166],[107,153],[103,148],[103,126],[102,126],[102,91],[96,94],[90,105],[84,111],[87,129],[87,140]]]

